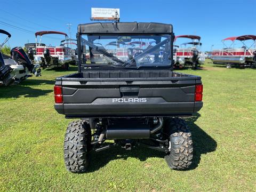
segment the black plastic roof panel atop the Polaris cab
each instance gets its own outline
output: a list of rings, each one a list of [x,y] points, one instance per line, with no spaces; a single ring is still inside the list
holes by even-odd
[[[155,22],[95,22],[78,25],[84,34],[171,34],[172,25]]]

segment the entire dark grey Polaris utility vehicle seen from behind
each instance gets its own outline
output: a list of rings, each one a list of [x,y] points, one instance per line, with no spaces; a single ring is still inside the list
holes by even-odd
[[[93,151],[138,145],[163,151],[171,169],[189,167],[191,133],[180,117],[202,108],[203,85],[199,76],[173,72],[173,41],[172,25],[163,23],[78,25],[78,73],[54,86],[55,110],[81,119],[67,127],[68,171],[86,171]]]

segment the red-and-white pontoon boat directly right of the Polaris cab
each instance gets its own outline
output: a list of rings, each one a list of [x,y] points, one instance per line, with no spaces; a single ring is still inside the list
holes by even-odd
[[[197,35],[178,35],[175,37],[174,42],[177,38],[189,38],[192,42],[174,46],[174,67],[183,68],[185,66],[191,66],[196,69],[200,65],[203,65],[205,57],[204,54],[201,54],[201,37]]]

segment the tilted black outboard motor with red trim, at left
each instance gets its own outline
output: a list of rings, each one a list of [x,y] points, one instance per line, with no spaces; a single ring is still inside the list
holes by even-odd
[[[35,66],[31,63],[28,55],[21,47],[14,47],[11,50],[12,59],[22,65],[24,68],[28,68],[30,73],[33,73],[35,76],[41,76],[41,69],[34,69]]]

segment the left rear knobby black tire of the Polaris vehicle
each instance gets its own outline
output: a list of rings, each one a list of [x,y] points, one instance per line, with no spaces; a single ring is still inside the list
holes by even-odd
[[[82,173],[89,166],[90,125],[83,120],[69,123],[64,140],[64,160],[68,171]]]

